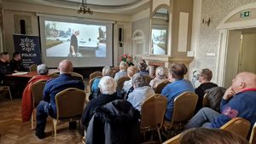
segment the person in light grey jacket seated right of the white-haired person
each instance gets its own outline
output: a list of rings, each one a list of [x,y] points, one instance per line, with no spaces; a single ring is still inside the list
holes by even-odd
[[[154,95],[154,89],[148,86],[146,78],[141,73],[136,73],[132,77],[133,91],[128,95],[127,101],[141,112],[143,101]]]

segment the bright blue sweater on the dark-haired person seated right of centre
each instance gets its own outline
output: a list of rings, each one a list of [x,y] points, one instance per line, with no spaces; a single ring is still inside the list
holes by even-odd
[[[177,95],[182,94],[185,91],[195,92],[195,89],[190,81],[181,79],[172,82],[172,84],[167,84],[162,90],[161,95],[165,95],[168,99],[166,108],[166,119],[172,120],[172,112],[174,107],[174,99]]]

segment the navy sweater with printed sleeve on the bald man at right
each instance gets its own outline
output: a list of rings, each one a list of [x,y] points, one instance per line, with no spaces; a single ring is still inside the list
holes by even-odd
[[[220,104],[221,114],[211,123],[212,128],[220,128],[230,119],[241,117],[251,123],[256,122],[256,89],[237,93],[230,100],[222,100]]]

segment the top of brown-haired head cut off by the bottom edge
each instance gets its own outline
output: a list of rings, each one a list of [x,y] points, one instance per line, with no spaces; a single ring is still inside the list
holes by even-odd
[[[240,135],[218,129],[197,128],[184,131],[179,137],[180,144],[249,144]]]

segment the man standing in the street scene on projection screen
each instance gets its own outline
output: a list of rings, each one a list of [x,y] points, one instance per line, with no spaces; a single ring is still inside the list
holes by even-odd
[[[73,35],[70,38],[69,54],[67,55],[68,57],[79,56],[79,41],[78,41],[79,33],[80,33],[79,30],[75,30],[73,32]]]

